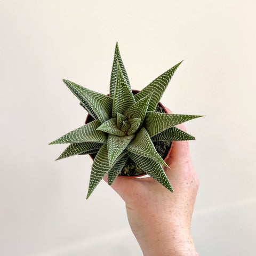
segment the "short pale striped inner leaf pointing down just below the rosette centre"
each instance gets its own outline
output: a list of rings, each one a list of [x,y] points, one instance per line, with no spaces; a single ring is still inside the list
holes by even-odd
[[[112,166],[116,158],[124,151],[126,146],[134,138],[135,135],[116,136],[113,134],[108,135],[108,159],[109,166]]]

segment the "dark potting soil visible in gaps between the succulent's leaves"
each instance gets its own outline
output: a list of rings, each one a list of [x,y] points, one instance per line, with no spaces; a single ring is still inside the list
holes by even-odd
[[[155,112],[165,113],[163,107],[161,107],[159,103],[156,107]],[[87,118],[87,123],[90,123],[93,120],[94,118],[89,115],[89,117]],[[156,148],[156,151],[163,159],[167,156],[169,149],[171,147],[171,143],[172,143],[171,141],[154,141],[153,142]],[[91,156],[94,159],[97,156],[97,153],[91,154]],[[122,175],[122,176],[137,176],[142,174],[146,174],[146,173],[142,171],[140,167],[137,164],[135,164],[130,157],[128,157],[122,171],[119,173],[119,175]]]

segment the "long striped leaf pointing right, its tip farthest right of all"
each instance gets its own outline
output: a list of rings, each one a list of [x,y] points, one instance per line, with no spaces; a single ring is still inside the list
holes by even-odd
[[[148,111],[145,117],[143,126],[146,128],[150,137],[163,132],[171,126],[181,124],[194,118],[202,116],[195,115],[179,115],[179,114],[164,114],[153,111]]]

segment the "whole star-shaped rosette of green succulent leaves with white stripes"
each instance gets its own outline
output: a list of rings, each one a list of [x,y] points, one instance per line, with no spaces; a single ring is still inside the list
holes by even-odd
[[[181,62],[158,76],[133,95],[118,44],[111,71],[109,97],[63,80],[79,99],[80,105],[95,119],[51,142],[70,143],[57,158],[97,153],[90,177],[87,198],[108,174],[111,185],[130,157],[144,172],[173,191],[153,141],[195,140],[175,125],[201,116],[156,113],[157,107],[175,70]]]

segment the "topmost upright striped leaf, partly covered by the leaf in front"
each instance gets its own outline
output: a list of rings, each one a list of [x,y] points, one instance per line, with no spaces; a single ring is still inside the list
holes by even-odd
[[[113,66],[112,66],[112,71],[111,71],[111,78],[110,78],[110,88],[109,88],[109,93],[110,93],[109,97],[110,98],[114,98],[114,93],[115,93],[116,76],[117,76],[117,62],[119,62],[119,65],[121,67],[121,70],[124,75],[126,83],[130,86],[129,78],[126,73],[124,63],[122,61],[122,58],[121,58],[121,55],[119,52],[118,43],[116,42],[115,55],[114,55],[114,61],[113,61]]]

